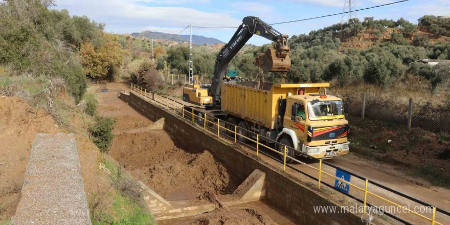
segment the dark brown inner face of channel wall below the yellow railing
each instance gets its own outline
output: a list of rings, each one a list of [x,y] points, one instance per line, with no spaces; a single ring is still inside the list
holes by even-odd
[[[222,140],[218,140],[197,127],[186,123],[182,118],[174,116],[164,109],[151,104],[143,98],[130,93],[122,93],[120,98],[138,110],[150,120],[165,118],[164,129],[175,143],[185,149],[207,149],[240,179],[245,179],[254,170],[266,173],[266,200],[283,211],[296,217],[302,224],[353,225],[366,224],[361,215],[353,213],[315,213],[313,206],[340,206],[322,195],[317,190],[300,184],[299,179],[263,162],[256,155],[234,148]]]

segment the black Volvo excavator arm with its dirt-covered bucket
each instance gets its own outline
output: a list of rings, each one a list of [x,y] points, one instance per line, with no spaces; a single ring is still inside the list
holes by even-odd
[[[274,48],[269,48],[265,54],[256,58],[255,65],[260,66],[265,72],[286,72],[289,70],[288,36],[276,31],[271,25],[266,24],[258,17],[247,16],[242,19],[242,24],[230,41],[217,54],[210,93],[214,99],[214,105],[220,104],[221,82],[226,74],[228,63],[254,34],[275,42]]]

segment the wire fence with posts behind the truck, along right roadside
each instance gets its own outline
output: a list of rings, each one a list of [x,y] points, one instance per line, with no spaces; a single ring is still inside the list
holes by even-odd
[[[415,102],[414,99],[399,101],[395,97],[385,98],[361,94],[361,97],[341,96],[344,111],[352,116],[420,127],[436,133],[450,133],[450,100],[442,104]]]

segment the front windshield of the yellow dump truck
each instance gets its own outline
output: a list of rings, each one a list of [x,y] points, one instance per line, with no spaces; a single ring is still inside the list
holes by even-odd
[[[310,120],[343,118],[343,115],[342,101],[308,102],[308,117]]]

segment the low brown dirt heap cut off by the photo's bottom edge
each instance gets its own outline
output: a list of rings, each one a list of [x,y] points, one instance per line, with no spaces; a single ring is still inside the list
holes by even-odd
[[[254,209],[219,209],[190,225],[271,225],[274,221]]]

